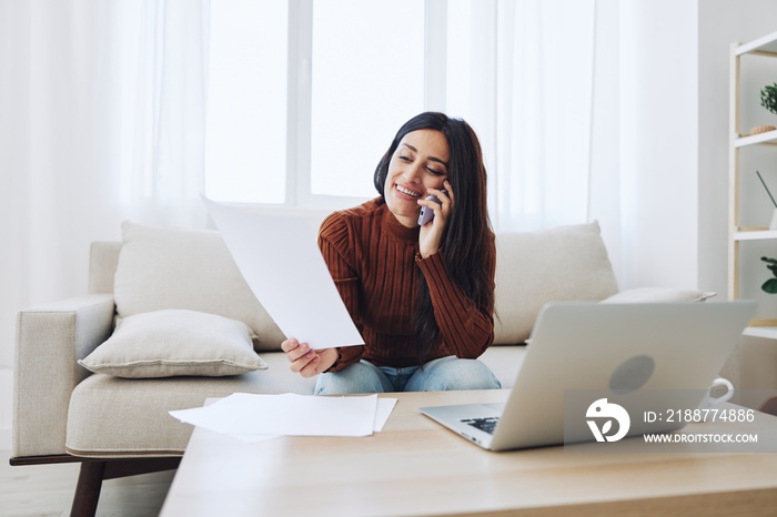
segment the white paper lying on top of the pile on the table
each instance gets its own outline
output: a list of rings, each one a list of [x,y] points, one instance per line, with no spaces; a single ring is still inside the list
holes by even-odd
[[[172,410],[186,424],[216,433],[283,436],[370,436],[376,425],[377,395],[319,397],[234,393],[205,407]]]

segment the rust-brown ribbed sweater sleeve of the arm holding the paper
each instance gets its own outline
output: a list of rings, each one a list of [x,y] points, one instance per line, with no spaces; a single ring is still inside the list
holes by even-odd
[[[363,324],[360,305],[360,278],[353,266],[353,258],[349,256],[351,232],[342,216],[334,213],[321,224],[319,232],[319,247],[324,256],[324,262],[330,270],[334,285],[340,297],[343,298],[345,308],[356,325],[360,334],[363,334]],[[337,372],[344,367],[357,363],[364,354],[364,346],[341,346],[337,348],[337,361],[327,372]]]

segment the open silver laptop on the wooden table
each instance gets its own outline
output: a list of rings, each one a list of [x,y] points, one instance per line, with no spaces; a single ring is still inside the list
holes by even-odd
[[[603,404],[633,415],[628,426],[610,422],[604,430],[676,430],[685,422],[664,415],[699,407],[755,311],[751,301],[551,303],[505,404],[421,412],[490,450],[602,442],[591,422]]]

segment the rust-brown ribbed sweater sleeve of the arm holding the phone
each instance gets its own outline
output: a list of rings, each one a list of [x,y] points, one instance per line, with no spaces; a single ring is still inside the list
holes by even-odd
[[[494,288],[496,252],[493,246],[484,260],[491,272],[488,282]],[[460,358],[480,357],[494,342],[494,307],[480,310],[461,286],[448,276],[443,251],[416,263],[426,278],[434,317],[443,335],[443,352]]]

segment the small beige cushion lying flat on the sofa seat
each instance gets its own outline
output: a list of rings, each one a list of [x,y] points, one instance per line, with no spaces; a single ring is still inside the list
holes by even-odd
[[[243,322],[186,310],[128,316],[79,364],[118,377],[220,377],[268,365],[253,351]]]

